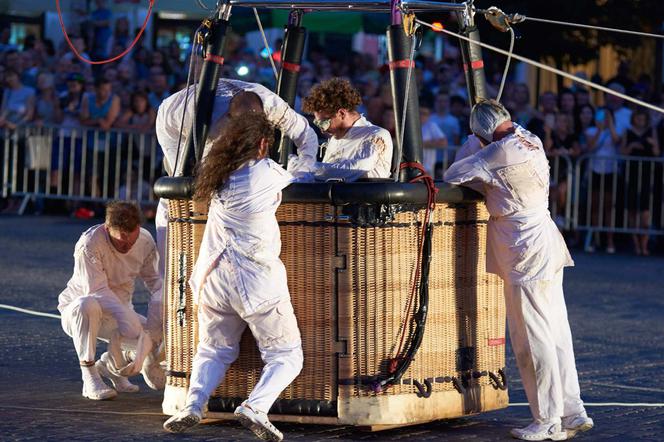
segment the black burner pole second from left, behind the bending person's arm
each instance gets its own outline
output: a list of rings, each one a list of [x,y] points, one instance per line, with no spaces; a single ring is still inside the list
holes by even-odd
[[[295,107],[297,80],[300,77],[304,43],[307,37],[307,30],[302,27],[303,15],[304,12],[301,9],[290,12],[281,48],[281,67],[279,68],[276,91],[277,95],[283,98],[290,107]],[[276,142],[272,146],[270,157],[286,167],[288,157],[292,152],[293,141],[284,134],[280,134],[276,137]]]

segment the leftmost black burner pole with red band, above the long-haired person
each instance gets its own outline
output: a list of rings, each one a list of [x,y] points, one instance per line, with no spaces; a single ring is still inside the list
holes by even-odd
[[[215,16],[203,22],[208,32],[203,43],[203,67],[198,82],[196,93],[196,115],[193,131],[189,132],[185,144],[185,159],[178,176],[191,176],[196,163],[203,156],[205,139],[211,125],[214,98],[217,92],[217,83],[221,66],[224,64],[224,45],[226,43],[226,32],[229,27],[231,16],[231,5],[220,3]],[[196,54],[192,54],[195,57]],[[177,173],[177,172],[176,172]]]

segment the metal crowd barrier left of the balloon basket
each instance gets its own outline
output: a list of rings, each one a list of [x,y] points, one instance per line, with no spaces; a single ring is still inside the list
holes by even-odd
[[[24,125],[0,133],[2,196],[156,202],[161,149],[153,133]]]

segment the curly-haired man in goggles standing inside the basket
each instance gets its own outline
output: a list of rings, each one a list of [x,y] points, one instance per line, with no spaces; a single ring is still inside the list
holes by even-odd
[[[304,99],[304,112],[313,114],[314,124],[329,136],[317,179],[390,177],[392,137],[357,111],[360,104],[360,93],[341,78],[317,84]]]

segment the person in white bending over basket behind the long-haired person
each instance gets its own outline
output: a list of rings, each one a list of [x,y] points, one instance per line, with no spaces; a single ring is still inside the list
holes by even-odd
[[[309,122],[302,115],[299,115],[288,106],[281,97],[266,87],[248,83],[240,80],[220,79],[217,84],[217,94],[214,100],[212,111],[212,125],[209,140],[212,139],[215,126],[218,126],[221,117],[226,115],[231,107],[231,102],[235,97],[242,96],[241,92],[253,92],[262,102],[262,109],[268,120],[278,129],[293,140],[298,148],[297,157],[291,161],[293,172],[306,174],[313,170],[313,164],[316,161],[318,151],[318,138],[316,133],[309,126]],[[164,163],[169,175],[172,175],[176,166],[178,155],[178,146],[181,147],[180,161],[184,156],[184,147],[186,145],[187,135],[192,126],[194,115],[194,86],[189,88],[189,99],[187,100],[187,111],[185,113],[184,124],[182,123],[182,113],[185,108],[187,96],[186,89],[168,97],[159,106],[156,120],[157,139],[159,145],[164,151]],[[242,101],[246,101],[242,99]],[[241,106],[238,106],[241,107]],[[245,109],[248,110],[248,109]],[[289,167],[289,170],[291,168]],[[161,199],[157,207],[157,216],[155,218],[157,229],[157,247],[159,256],[162,260],[160,271],[164,272],[166,229],[168,227],[168,205],[167,201]]]

